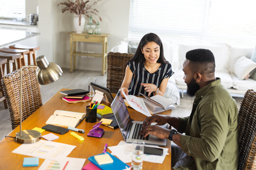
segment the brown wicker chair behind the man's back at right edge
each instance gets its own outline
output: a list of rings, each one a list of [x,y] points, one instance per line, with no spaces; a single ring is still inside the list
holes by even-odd
[[[238,111],[238,170],[256,170],[256,92],[247,90]]]

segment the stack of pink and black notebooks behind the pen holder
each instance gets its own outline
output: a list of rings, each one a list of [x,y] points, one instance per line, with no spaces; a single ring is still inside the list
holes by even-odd
[[[88,102],[91,100],[86,94],[89,93],[87,90],[83,89],[73,89],[60,91],[60,94],[65,96],[62,98],[65,102],[68,103],[77,103],[77,102]]]

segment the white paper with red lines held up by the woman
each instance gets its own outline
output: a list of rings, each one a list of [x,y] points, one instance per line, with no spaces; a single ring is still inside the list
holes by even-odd
[[[134,95],[126,95],[125,92],[122,90],[124,97],[127,99],[129,105],[138,112],[146,116],[151,116],[150,112],[148,111],[146,104],[144,103],[143,99],[140,97],[136,97]]]

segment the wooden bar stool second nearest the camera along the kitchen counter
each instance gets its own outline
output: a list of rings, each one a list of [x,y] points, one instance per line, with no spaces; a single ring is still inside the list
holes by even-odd
[[[20,65],[19,65],[19,59],[20,58],[21,58],[21,54],[0,52],[0,59],[7,59],[7,64],[6,64],[7,65],[6,66],[7,74],[20,68]],[[12,67],[13,67],[12,70],[10,69],[10,64],[11,63],[12,63]]]

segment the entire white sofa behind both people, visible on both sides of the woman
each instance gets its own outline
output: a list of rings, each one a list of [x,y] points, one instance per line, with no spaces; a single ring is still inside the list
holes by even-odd
[[[112,52],[121,52],[121,53],[128,53],[128,42],[129,41],[137,41],[138,40],[131,40],[131,39],[125,39],[124,42],[119,42],[119,44],[111,49]],[[212,51],[214,57],[215,57],[215,76],[221,78],[221,83],[228,89],[230,94],[239,94],[243,95],[247,89],[254,89],[256,90],[256,80],[253,80],[251,78],[248,78],[247,80],[240,80],[238,76],[236,76],[234,73],[236,72],[238,75],[238,72],[240,72],[241,68],[247,67],[244,65],[238,65],[239,62],[238,59],[240,59],[242,56],[246,56],[247,59],[250,59],[254,49],[253,48],[239,48],[239,47],[233,47],[228,44],[211,44],[211,45],[180,45],[178,50],[178,62],[175,65],[173,63],[173,56],[175,55],[173,53],[173,48],[171,46],[171,43],[169,42],[163,42],[164,46],[164,53],[165,58],[172,63],[173,68],[176,68],[174,70],[174,75],[169,79],[168,87],[165,91],[168,92],[167,94],[170,95],[170,90],[174,90],[176,93],[176,89],[174,88],[172,81],[176,83],[176,86],[182,90],[182,96],[183,96],[183,90],[187,89],[187,85],[185,84],[183,80],[183,62],[185,60],[185,55],[187,51],[193,50],[193,49],[209,49]],[[253,61],[252,61],[253,62]],[[236,69],[235,66],[239,66],[239,69]],[[256,68],[255,65],[251,65],[250,67]],[[171,87],[170,87],[171,86]],[[172,93],[174,93],[172,91]],[[169,98],[171,98],[169,96]],[[179,102],[179,99],[177,99]]]

